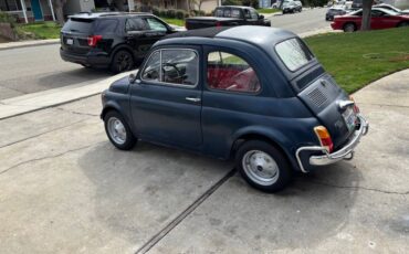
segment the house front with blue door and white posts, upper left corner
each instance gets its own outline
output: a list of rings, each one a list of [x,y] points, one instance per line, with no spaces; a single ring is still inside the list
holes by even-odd
[[[14,15],[19,22],[55,21],[52,0],[0,0],[0,11]]]

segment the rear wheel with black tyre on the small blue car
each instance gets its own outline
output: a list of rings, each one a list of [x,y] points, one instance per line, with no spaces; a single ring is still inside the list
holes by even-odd
[[[292,178],[286,157],[265,141],[244,142],[235,154],[235,165],[250,186],[265,192],[284,189]]]

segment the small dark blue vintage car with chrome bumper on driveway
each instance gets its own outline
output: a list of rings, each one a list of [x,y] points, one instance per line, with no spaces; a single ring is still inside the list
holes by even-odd
[[[102,94],[106,134],[219,159],[253,187],[352,159],[368,123],[305,43],[281,29],[210,28],[157,42],[136,75]]]

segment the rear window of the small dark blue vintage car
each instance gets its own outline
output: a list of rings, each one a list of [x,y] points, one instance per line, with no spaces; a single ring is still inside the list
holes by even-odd
[[[285,66],[294,72],[314,59],[313,53],[297,38],[289,39],[275,45],[275,52]]]

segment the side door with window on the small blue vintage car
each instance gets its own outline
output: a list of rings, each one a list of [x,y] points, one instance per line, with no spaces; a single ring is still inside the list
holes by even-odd
[[[130,86],[130,110],[140,138],[197,148],[201,137],[199,47],[154,51]]]

